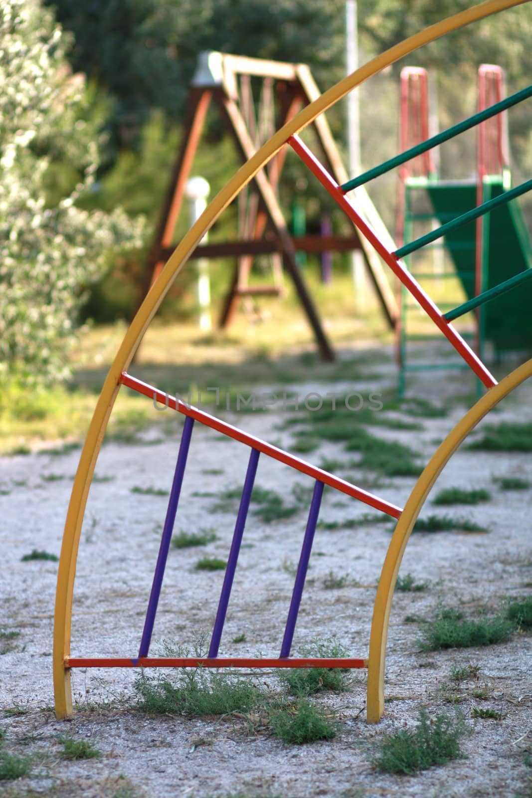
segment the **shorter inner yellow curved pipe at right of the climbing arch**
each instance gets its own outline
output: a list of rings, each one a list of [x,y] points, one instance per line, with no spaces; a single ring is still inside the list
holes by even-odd
[[[375,606],[373,607],[372,630],[369,638],[368,658],[368,722],[376,723],[384,712],[384,663],[386,659],[386,641],[388,638],[388,620],[392,609],[393,591],[396,589],[396,579],[403,559],[404,549],[412,528],[420,514],[429,492],[448,460],[456,449],[467,437],[471,430],[499,404],[504,397],[521,385],[532,375],[532,360],[526,361],[518,369],[512,371],[507,377],[495,385],[488,393],[479,399],[476,405],[460,419],[443,443],[439,445],[429,460],[420,479],[417,481],[408,498],[403,512],[400,515],[392,540],[388,546],[384,565],[380,573],[379,584],[376,590]]]

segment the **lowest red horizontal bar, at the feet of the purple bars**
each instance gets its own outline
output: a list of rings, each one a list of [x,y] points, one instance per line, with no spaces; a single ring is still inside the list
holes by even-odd
[[[65,668],[367,668],[367,659],[242,657],[65,657]]]

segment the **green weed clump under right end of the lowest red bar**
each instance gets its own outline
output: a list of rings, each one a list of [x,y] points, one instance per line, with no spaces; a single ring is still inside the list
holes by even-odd
[[[314,640],[310,646],[301,649],[300,656],[344,658],[348,653],[336,638],[327,638]],[[295,696],[309,696],[325,690],[343,693],[347,689],[345,668],[282,668],[278,670],[278,677],[283,688]]]

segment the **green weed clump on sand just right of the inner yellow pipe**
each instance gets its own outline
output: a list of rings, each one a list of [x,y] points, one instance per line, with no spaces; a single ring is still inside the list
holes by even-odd
[[[514,623],[501,615],[471,621],[464,618],[461,610],[441,606],[435,618],[424,624],[423,638],[418,642],[423,651],[491,646],[509,640],[514,628]]]

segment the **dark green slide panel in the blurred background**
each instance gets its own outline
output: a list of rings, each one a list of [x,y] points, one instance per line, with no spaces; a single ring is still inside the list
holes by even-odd
[[[476,184],[472,182],[428,181],[428,196],[439,223],[454,219],[476,205]],[[504,192],[502,178],[490,177],[484,200]],[[532,266],[532,249],[522,213],[515,200],[495,208],[486,217],[489,224],[487,286]],[[464,224],[444,238],[467,298],[475,296],[475,221]],[[495,350],[525,349],[532,346],[532,284],[509,291],[484,306],[486,338]]]

